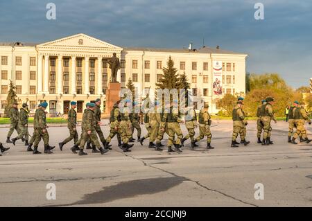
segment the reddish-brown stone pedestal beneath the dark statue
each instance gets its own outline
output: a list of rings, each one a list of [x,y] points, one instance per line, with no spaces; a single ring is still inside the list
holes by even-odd
[[[120,100],[120,91],[121,83],[119,82],[109,82],[108,88],[106,90],[106,99],[105,99],[105,115],[104,118],[110,116],[110,111],[114,104]]]

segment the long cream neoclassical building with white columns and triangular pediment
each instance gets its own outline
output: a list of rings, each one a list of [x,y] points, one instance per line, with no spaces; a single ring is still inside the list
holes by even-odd
[[[41,100],[46,100],[49,114],[67,114],[70,101],[76,100],[78,113],[82,113],[87,101],[105,100],[110,82],[107,60],[112,53],[121,60],[117,78],[121,87],[130,78],[139,98],[144,98],[148,89],[155,89],[169,56],[178,73],[187,74],[194,101],[208,101],[212,113],[218,111],[216,100],[223,94],[245,93],[245,53],[205,46],[121,48],[78,34],[43,44],[0,43],[0,113],[6,107],[10,80],[16,87],[19,103],[28,102],[31,112]],[[218,87],[220,93],[214,91],[217,81],[222,85]]]

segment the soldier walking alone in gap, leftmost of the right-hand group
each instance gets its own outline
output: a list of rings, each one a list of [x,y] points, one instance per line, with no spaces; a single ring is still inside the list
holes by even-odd
[[[245,140],[244,127],[247,125],[247,121],[245,120],[245,116],[243,113],[243,98],[239,98],[236,103],[236,106],[232,112],[232,120],[233,120],[233,134],[232,134],[232,144],[231,148],[238,148],[239,145],[236,144],[237,136],[241,136],[241,141],[244,145],[248,145],[250,141]]]

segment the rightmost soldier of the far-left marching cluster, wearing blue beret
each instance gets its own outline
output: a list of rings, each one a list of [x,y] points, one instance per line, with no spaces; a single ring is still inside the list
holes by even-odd
[[[44,141],[44,153],[51,154],[51,150],[55,148],[54,146],[49,145],[49,132],[46,130],[46,128],[48,128],[48,125],[46,125],[46,107],[48,107],[48,103],[44,101],[35,113],[33,121],[33,127],[35,130],[33,154],[41,154],[41,152],[38,151],[38,145],[41,139]]]

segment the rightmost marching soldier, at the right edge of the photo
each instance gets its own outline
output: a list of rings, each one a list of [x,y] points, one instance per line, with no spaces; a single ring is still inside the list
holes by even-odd
[[[302,139],[304,139],[306,143],[310,143],[312,140],[308,139],[304,123],[305,121],[308,121],[309,124],[311,124],[311,120],[308,114],[306,113],[306,110],[304,109],[304,104],[301,107],[298,106],[293,109],[293,116],[295,119],[295,125],[297,126],[297,130],[293,135],[293,139],[291,139],[291,143],[297,144],[295,139],[297,139],[297,137],[300,136],[300,134],[302,135]]]

